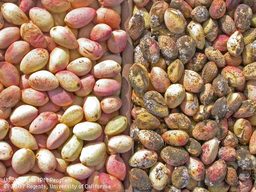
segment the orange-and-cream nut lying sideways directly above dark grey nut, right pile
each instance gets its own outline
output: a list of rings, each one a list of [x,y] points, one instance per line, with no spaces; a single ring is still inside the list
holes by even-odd
[[[172,146],[184,146],[189,140],[189,135],[183,130],[168,130],[162,134],[162,139]]]

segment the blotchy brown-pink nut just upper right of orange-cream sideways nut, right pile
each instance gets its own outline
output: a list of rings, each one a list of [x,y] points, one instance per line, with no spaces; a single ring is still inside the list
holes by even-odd
[[[192,134],[197,140],[208,140],[215,137],[218,129],[218,125],[213,120],[208,119],[197,123]]]

